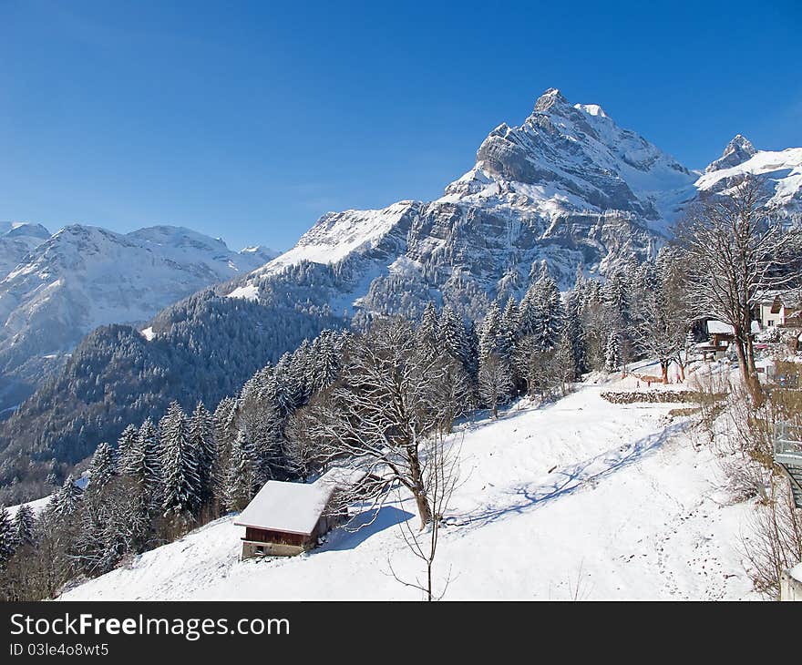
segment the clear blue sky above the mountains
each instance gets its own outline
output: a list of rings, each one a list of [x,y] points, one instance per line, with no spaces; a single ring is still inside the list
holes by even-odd
[[[437,197],[547,87],[690,168],[802,146],[800,5],[0,0],[0,220],[287,249]]]

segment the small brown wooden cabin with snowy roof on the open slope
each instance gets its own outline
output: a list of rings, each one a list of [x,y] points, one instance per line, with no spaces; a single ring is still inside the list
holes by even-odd
[[[336,491],[364,476],[332,469],[314,483],[269,480],[234,519],[245,527],[242,559],[293,557],[315,547],[319,537],[348,517],[333,506]]]

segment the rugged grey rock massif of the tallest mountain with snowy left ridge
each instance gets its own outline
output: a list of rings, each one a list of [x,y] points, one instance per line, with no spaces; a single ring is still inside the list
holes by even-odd
[[[694,179],[601,107],[550,89],[523,125],[490,133],[442,198],[324,215],[231,295],[265,301],[271,280],[311,261],[348,274],[324,294],[334,312],[415,314],[435,300],[480,317],[491,300],[520,295],[533,265],[569,288],[577,266],[604,274],[642,261]]]

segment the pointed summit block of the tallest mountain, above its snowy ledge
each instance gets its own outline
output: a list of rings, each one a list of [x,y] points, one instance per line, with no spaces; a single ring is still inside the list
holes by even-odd
[[[694,175],[596,104],[572,105],[547,90],[519,127],[502,123],[473,169],[447,186],[441,201],[507,200],[544,218],[577,212],[631,214],[664,233],[694,195]]]

